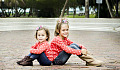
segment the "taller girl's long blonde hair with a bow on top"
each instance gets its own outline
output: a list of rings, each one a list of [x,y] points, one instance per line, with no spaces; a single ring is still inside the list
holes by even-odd
[[[68,20],[65,19],[65,18],[59,19],[59,20],[57,21],[57,24],[56,24],[56,27],[55,27],[54,35],[55,35],[55,36],[58,36],[58,35],[59,35],[62,24],[67,24],[68,27],[69,27],[69,24],[68,24],[68,23],[69,23]]]

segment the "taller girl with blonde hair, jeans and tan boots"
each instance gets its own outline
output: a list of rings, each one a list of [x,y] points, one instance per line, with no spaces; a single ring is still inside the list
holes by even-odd
[[[68,39],[69,24],[67,19],[57,21],[55,28],[55,37],[51,41],[51,53],[54,65],[63,65],[70,58],[71,54],[77,55],[80,59],[86,61],[87,66],[101,66],[102,61],[93,58],[87,54],[87,49],[80,44],[76,44]],[[49,57],[48,57],[49,58]]]

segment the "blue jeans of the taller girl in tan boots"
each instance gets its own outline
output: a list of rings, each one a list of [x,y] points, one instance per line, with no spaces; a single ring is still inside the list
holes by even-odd
[[[81,49],[77,44],[72,43],[70,46],[73,49]],[[59,55],[54,59],[53,61],[53,65],[64,65],[67,60],[70,58],[71,54],[66,53],[65,51],[62,51],[59,53]],[[82,56],[82,55],[77,55],[78,57]]]

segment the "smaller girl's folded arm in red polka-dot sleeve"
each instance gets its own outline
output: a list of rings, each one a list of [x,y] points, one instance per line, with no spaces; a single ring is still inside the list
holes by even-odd
[[[38,49],[30,49],[30,53],[41,54],[49,47],[50,45],[48,44],[48,42],[45,42],[44,44],[40,45]]]

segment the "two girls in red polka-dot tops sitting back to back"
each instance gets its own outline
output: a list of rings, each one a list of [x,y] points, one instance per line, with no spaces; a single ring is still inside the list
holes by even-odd
[[[42,31],[42,32],[41,32]],[[41,33],[40,33],[41,32]],[[64,65],[70,58],[71,54],[77,55],[80,59],[86,61],[87,66],[101,66],[102,61],[93,58],[87,54],[87,49],[79,44],[73,43],[67,37],[69,35],[69,24],[67,19],[60,19],[57,21],[55,28],[55,37],[51,41],[50,46],[48,45],[47,39],[49,39],[49,33],[45,32],[42,28],[36,31],[36,38],[40,45],[30,50],[28,55],[31,61],[26,60],[26,57],[21,61],[17,62],[20,65],[28,66],[27,63],[31,63],[34,59],[37,59],[41,65]],[[37,35],[39,33],[39,35]],[[39,36],[45,36],[43,39]],[[42,41],[41,41],[42,40]],[[41,42],[45,44],[42,45]],[[37,44],[39,44],[37,43]],[[36,45],[35,45],[36,46]]]

